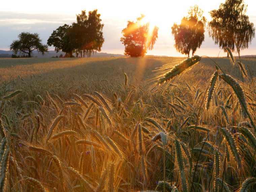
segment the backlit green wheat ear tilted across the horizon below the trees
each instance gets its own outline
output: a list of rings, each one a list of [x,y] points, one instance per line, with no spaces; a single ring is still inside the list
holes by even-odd
[[[161,77],[158,80],[158,84],[162,84],[170,79],[172,79],[173,77],[181,74],[183,71],[185,71],[186,69],[188,69],[189,67],[191,67],[192,65],[198,63],[201,60],[201,57],[198,55],[192,56],[184,61],[182,61],[180,64],[175,65],[171,71],[169,71],[168,73],[166,73],[163,77]]]

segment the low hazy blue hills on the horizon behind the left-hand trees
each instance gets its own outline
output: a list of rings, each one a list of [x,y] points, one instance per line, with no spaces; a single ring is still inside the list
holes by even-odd
[[[13,54],[12,51],[0,50],[0,58],[8,58],[8,57],[11,57],[12,54]],[[63,56],[65,55],[65,53],[62,52],[62,51],[59,51],[58,53],[56,51],[48,51],[44,55],[42,55],[41,53],[38,53],[37,51],[33,51],[32,52],[32,57],[44,57],[44,58],[56,57],[56,56],[59,57],[61,54]],[[92,54],[91,57],[124,57],[124,55],[123,54],[111,54],[111,53],[96,52],[96,53]]]

